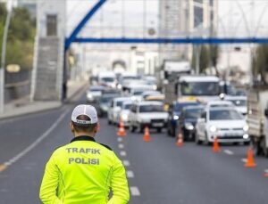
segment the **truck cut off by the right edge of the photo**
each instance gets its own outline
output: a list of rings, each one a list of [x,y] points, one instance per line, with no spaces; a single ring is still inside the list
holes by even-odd
[[[247,93],[247,125],[255,154],[268,157],[268,87],[253,86]]]

